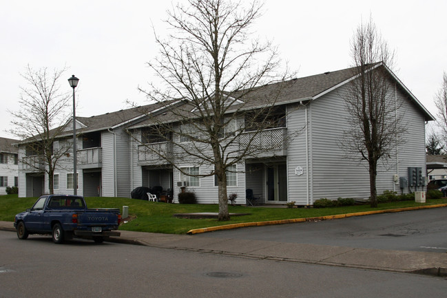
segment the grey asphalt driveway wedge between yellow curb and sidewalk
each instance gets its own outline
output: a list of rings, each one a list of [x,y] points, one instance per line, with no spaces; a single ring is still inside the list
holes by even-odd
[[[447,208],[238,228],[195,237],[446,253]]]

